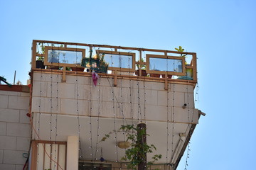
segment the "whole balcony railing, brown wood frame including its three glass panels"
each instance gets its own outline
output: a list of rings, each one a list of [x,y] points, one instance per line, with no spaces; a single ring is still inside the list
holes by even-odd
[[[114,79],[135,77],[166,84],[169,81],[197,83],[195,52],[33,40],[31,65],[33,71],[63,72],[64,81],[65,74],[75,71],[86,75],[95,70]]]

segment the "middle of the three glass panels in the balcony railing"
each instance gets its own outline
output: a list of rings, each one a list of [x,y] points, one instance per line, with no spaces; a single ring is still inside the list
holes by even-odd
[[[105,62],[109,63],[109,67],[132,69],[132,55],[105,54],[104,60]]]

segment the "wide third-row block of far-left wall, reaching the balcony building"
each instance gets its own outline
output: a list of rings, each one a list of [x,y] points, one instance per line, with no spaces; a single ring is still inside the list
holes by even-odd
[[[23,123],[7,123],[6,135],[16,137],[30,137],[31,126]]]

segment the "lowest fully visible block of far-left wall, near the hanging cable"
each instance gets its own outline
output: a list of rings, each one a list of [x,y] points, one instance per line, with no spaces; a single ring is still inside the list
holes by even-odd
[[[25,164],[24,151],[4,150],[4,164]]]

